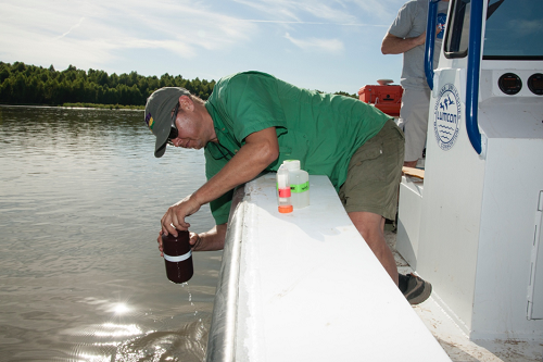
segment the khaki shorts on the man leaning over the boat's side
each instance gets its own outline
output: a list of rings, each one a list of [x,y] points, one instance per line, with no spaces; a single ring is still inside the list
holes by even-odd
[[[402,130],[389,120],[354,152],[339,192],[346,212],[366,211],[395,219],[404,142]]]

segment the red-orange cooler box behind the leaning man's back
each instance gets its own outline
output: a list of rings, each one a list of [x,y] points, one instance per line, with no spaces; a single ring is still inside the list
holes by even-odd
[[[400,116],[402,95],[404,89],[397,85],[364,86],[358,90],[358,99],[365,103],[374,104],[388,115]]]

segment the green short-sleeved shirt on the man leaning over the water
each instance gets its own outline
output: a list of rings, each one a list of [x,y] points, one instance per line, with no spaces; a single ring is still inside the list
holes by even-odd
[[[279,158],[300,160],[311,175],[327,175],[339,190],[352,154],[374,137],[390,116],[372,105],[343,96],[319,93],[260,72],[244,72],[217,82],[205,103],[219,145],[205,147],[207,179],[218,173],[254,132],[276,127]],[[215,222],[228,221],[231,191],[211,202]]]

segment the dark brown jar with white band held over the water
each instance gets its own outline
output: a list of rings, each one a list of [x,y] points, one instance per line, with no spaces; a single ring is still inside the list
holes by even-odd
[[[171,282],[185,283],[194,274],[189,239],[189,232],[177,230],[177,237],[173,235],[162,236],[166,276]]]

